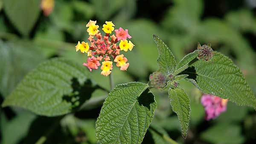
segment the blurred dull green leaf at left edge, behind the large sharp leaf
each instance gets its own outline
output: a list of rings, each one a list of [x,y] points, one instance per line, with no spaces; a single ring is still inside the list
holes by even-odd
[[[0,41],[0,92],[10,95],[21,79],[45,60],[41,51],[25,41]]]

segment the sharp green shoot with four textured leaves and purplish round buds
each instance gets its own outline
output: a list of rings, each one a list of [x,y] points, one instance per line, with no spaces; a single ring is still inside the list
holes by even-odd
[[[153,73],[150,79],[155,78],[156,81],[153,83],[158,84],[157,88],[162,87],[168,90],[172,109],[180,120],[184,138],[189,126],[191,109],[189,96],[177,85],[178,83],[175,84],[179,80],[185,79],[192,82],[204,93],[230,99],[238,105],[256,108],[256,98],[245,82],[240,69],[232,60],[208,49],[209,45],[208,48],[204,45],[199,46],[198,50],[189,53],[176,64],[166,44],[157,35],[153,37],[159,51],[157,63],[160,69]],[[159,83],[161,81],[163,83]],[[149,84],[151,85],[152,81]],[[147,84],[134,82],[118,85],[111,91],[96,122],[96,135],[100,144],[140,144],[142,142],[145,129],[149,127],[156,109],[154,96],[147,91],[143,93],[147,88]],[[147,97],[145,98],[142,94]],[[142,100],[150,101],[150,99],[152,100],[148,105],[141,102]]]

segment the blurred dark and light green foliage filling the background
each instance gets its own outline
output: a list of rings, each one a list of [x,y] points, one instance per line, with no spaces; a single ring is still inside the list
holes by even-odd
[[[242,69],[256,93],[256,11],[249,6],[249,0],[55,0],[54,10],[45,17],[40,0],[0,0],[0,103],[46,59],[64,57],[85,62],[86,56],[76,53],[75,45],[78,40],[87,40],[85,25],[90,19],[99,25],[112,20],[116,29],[129,29],[133,37],[134,50],[126,55],[128,71],[113,67],[115,84],[148,81],[148,75],[158,69],[158,52],[152,38],[157,34],[177,61],[195,50],[198,41],[212,43],[214,50],[232,58]],[[108,78],[99,75],[99,70],[92,72],[92,78],[109,89]],[[181,85],[192,97],[187,139],[181,137],[167,94],[156,90],[160,95],[152,123],[156,128],[149,129],[143,144],[168,144],[161,135],[180,144],[255,143],[255,110],[229,102],[227,112],[205,121],[201,93],[185,81]],[[105,96],[99,90],[92,98]],[[34,144],[44,138],[45,144],[96,144],[95,121],[102,106],[99,103],[99,107],[50,119],[22,109],[1,108],[0,144]]]

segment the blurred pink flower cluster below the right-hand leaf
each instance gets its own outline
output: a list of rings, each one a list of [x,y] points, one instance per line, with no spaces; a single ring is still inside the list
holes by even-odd
[[[227,109],[227,101],[227,99],[222,99],[215,95],[202,95],[201,104],[205,109],[205,119],[207,121],[215,119],[222,112],[225,112]]]

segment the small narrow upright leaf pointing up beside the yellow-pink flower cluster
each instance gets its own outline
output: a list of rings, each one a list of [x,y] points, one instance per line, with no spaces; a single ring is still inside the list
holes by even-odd
[[[166,46],[166,44],[163,43],[163,41],[157,35],[153,35],[153,37],[159,52],[157,63],[159,65],[160,72],[162,72],[164,75],[169,75],[176,66],[174,55],[172,55],[172,52],[168,46]]]

